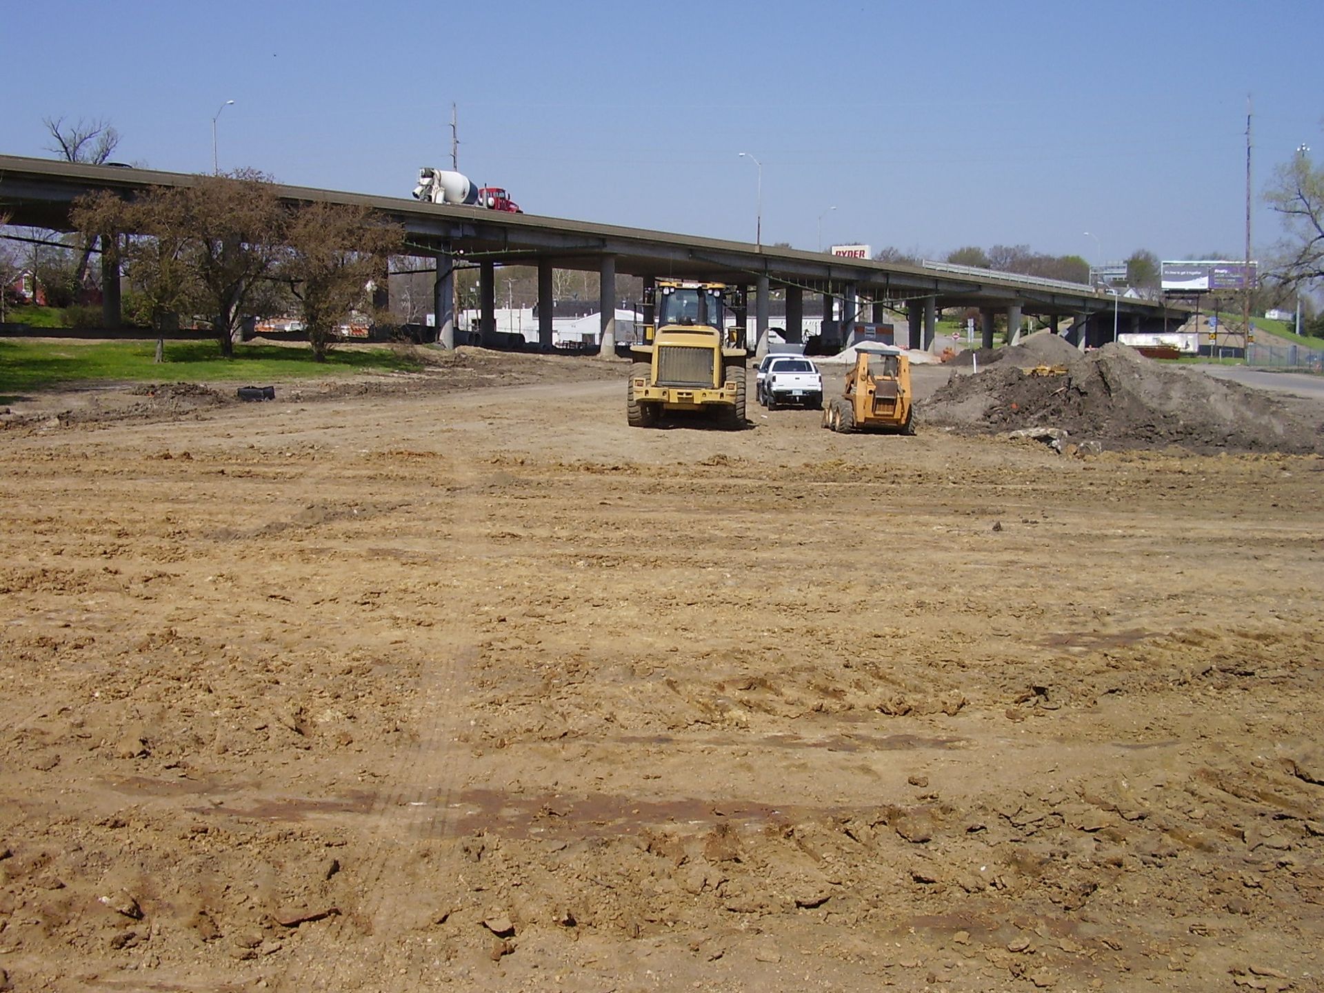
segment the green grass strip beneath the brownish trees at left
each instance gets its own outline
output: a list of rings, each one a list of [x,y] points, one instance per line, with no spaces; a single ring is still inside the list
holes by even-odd
[[[20,342],[0,339],[0,402],[20,393],[81,383],[271,383],[307,376],[417,369],[389,348],[332,350],[324,363],[308,348],[237,344],[222,359],[214,342],[167,342],[166,361],[154,361],[155,342]]]

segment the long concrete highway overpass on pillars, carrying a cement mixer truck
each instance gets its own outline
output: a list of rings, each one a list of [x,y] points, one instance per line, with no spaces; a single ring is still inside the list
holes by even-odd
[[[117,166],[89,166],[0,155],[0,213],[11,222],[69,230],[73,201],[110,191],[132,196],[150,187],[184,187],[201,177],[192,173]],[[981,314],[982,344],[993,346],[993,320],[1005,314],[1009,327],[1022,315],[1043,319],[1054,331],[1064,318],[1086,344],[1099,346],[1120,331],[1168,330],[1186,318],[1185,308],[1128,299],[1083,283],[994,273],[927,262],[919,266],[842,258],[821,252],[769,248],[748,242],[702,238],[610,224],[514,214],[478,207],[450,207],[413,199],[368,196],[308,187],[275,185],[290,204],[359,204],[381,212],[405,230],[399,254],[437,260],[434,312],[438,342],[454,346],[454,271],[478,267],[481,326],[495,326],[495,267],[538,269],[539,338],[552,342],[552,273],[555,269],[597,271],[601,275],[602,348],[614,342],[616,275],[634,275],[645,286],[659,277],[700,278],[752,289],[756,340],[767,342],[772,290],[785,294],[785,336],[802,340],[805,297],[821,298],[824,316],[834,319],[841,301],[841,327],[871,318],[886,323],[887,310],[903,310],[911,348],[933,340],[937,311],[974,307]],[[106,323],[119,324],[119,279],[113,253],[102,253]],[[866,308],[871,315],[866,316]],[[747,327],[748,315],[737,323]]]

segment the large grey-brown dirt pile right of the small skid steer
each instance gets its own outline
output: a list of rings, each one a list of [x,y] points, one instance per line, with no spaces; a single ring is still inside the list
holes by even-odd
[[[985,433],[1061,428],[1072,440],[1115,449],[1324,451],[1319,409],[1311,404],[1162,365],[1127,346],[1107,344],[1079,356],[1058,342],[1076,357],[1033,364],[1064,365],[1066,373],[1027,373],[1031,354],[1005,350],[992,368],[953,377],[922,404],[924,421]],[[1042,355],[1050,348],[1066,355],[1055,346],[1034,347]]]

